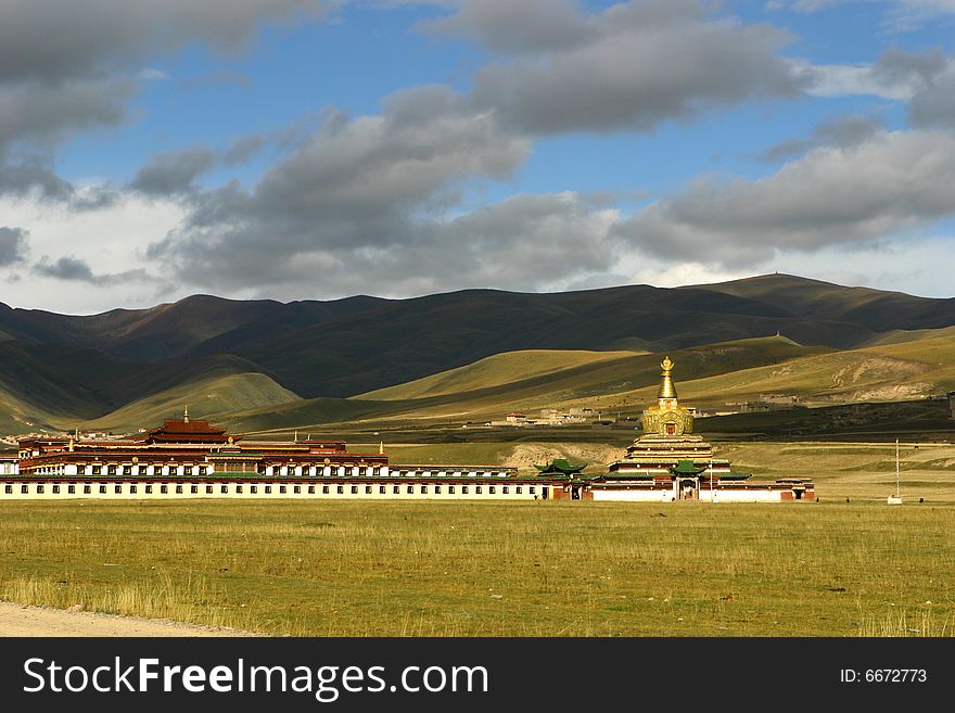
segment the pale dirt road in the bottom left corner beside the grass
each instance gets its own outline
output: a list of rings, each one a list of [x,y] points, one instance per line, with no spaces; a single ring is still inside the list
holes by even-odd
[[[46,607],[0,602],[3,636],[253,636],[238,629],[212,628],[157,619],[94,612],[67,612]]]

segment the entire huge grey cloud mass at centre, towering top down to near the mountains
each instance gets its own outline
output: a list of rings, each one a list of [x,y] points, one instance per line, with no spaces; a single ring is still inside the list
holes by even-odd
[[[466,186],[506,178],[529,150],[446,87],[399,92],[382,116],[331,117],[254,190],[233,183],[194,196],[187,220],[149,256],[188,282],[230,289],[314,285],[316,275],[323,290],[352,281],[368,291],[362,279],[389,283],[379,291],[405,279],[453,287],[464,275],[510,284],[508,276],[556,271],[569,255],[602,266],[597,231],[584,228],[606,214],[585,198],[521,196],[458,215]],[[551,252],[553,263],[544,257]],[[396,265],[404,271],[385,269]]]

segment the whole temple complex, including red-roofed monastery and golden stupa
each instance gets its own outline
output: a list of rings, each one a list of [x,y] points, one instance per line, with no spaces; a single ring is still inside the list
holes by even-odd
[[[166,419],[123,438],[31,436],[0,469],[0,498],[364,498],[572,500],[814,500],[803,478],[756,482],[693,434],[674,362],[661,367],[642,434],[607,472],[555,459],[536,475],[501,466],[394,464],[384,448],[353,453],[342,441],[245,441],[202,419]]]

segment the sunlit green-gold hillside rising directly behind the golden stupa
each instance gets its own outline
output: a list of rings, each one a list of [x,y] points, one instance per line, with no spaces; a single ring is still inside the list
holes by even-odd
[[[811,405],[897,402],[955,389],[955,334],[837,352],[782,336],[668,353],[680,398],[701,407],[798,395]],[[351,399],[317,398],[235,413],[246,431],[334,423],[483,422],[511,410],[587,406],[636,416],[655,398],[661,354],[514,352]],[[787,413],[789,416],[787,416]],[[756,417],[757,418],[757,417]],[[794,418],[781,412],[780,418]]]

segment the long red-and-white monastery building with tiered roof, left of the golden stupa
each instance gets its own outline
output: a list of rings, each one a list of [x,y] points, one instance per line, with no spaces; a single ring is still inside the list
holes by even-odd
[[[125,438],[29,437],[0,497],[547,499],[557,476],[515,468],[400,464],[342,441],[244,441],[202,419],[166,419]]]

